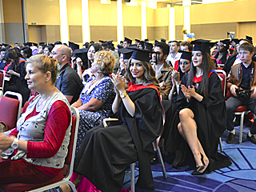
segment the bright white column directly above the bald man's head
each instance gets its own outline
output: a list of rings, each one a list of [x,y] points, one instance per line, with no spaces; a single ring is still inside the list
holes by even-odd
[[[67,10],[66,10],[66,0],[59,0],[59,13],[61,20],[61,39],[62,43],[69,42],[69,25],[67,22]]]

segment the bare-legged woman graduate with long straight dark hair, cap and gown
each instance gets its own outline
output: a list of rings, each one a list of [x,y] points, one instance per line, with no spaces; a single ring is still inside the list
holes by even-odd
[[[220,79],[212,70],[210,43],[192,43],[193,65],[182,78],[166,150],[176,154],[174,167],[195,165],[192,174],[204,174],[231,164],[218,153],[218,138],[226,128],[226,105]]]

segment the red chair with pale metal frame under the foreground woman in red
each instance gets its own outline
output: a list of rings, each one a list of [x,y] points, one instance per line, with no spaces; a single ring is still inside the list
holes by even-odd
[[[9,185],[4,186],[2,190],[11,192],[11,191],[27,191],[28,189],[34,189],[29,191],[42,192],[45,190],[54,189],[58,186],[68,184],[70,186],[70,189],[72,189],[72,191],[77,191],[74,187],[74,184],[70,182],[70,178],[73,173],[73,167],[74,167],[74,154],[75,154],[75,147],[77,144],[78,124],[79,124],[80,115],[77,108],[74,108],[71,106],[71,110],[74,112],[74,115],[72,115],[70,144],[68,146],[68,154],[66,155],[65,165],[62,168],[63,174],[65,175],[65,177],[63,178],[63,175],[58,175],[57,178],[53,178],[52,181],[47,182],[45,186],[42,186],[42,183],[40,184],[11,183]],[[66,171],[66,167],[67,167],[67,171]],[[55,182],[55,181],[58,181],[58,182]]]

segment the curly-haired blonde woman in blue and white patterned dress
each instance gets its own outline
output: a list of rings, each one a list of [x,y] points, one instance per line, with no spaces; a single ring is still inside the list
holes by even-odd
[[[104,118],[108,118],[114,102],[114,85],[109,77],[114,71],[114,64],[114,55],[109,51],[98,51],[90,68],[94,77],[87,80],[80,98],[72,104],[78,108],[80,114],[76,153],[82,145],[86,131],[99,126]]]

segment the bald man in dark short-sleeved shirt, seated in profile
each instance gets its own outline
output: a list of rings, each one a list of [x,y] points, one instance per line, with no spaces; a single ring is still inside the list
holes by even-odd
[[[78,100],[83,85],[78,73],[70,66],[70,48],[64,45],[56,45],[51,55],[58,60],[60,65],[56,87],[65,95],[71,105]]]

